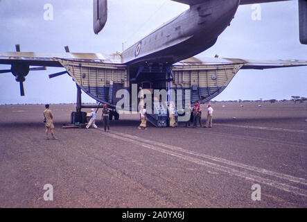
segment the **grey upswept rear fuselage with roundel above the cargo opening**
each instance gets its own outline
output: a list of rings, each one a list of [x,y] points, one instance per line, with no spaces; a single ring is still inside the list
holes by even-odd
[[[207,0],[191,6],[123,51],[123,63],[173,64],[209,49],[229,26],[239,2]]]

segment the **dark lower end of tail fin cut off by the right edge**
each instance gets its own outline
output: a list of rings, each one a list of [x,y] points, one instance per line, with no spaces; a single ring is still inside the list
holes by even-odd
[[[307,44],[307,0],[299,0],[299,41]]]

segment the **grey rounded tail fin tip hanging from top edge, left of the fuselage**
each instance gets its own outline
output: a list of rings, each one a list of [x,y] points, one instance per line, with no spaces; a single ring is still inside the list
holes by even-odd
[[[98,34],[107,22],[107,0],[93,0],[94,33]]]

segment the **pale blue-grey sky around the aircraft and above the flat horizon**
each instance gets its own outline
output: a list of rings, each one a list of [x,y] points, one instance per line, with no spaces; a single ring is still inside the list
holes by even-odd
[[[44,5],[53,6],[53,21],[44,20]],[[261,4],[261,20],[251,17],[252,6],[240,6],[235,19],[218,42],[198,57],[245,58],[254,60],[307,60],[307,46],[299,43],[298,3],[287,1]],[[115,53],[128,48],[188,6],[169,0],[109,0],[103,31],[94,34],[90,0],[0,0],[0,51],[46,53]],[[0,65],[0,69],[10,66]],[[0,104],[75,103],[76,85],[69,76],[49,79],[58,71],[32,71],[24,83],[26,96],[12,74],[0,74]],[[290,99],[307,97],[307,67],[241,70],[213,100]],[[85,93],[82,101],[94,102]]]

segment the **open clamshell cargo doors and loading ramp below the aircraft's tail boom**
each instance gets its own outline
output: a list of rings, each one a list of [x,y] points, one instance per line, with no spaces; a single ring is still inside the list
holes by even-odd
[[[67,69],[78,87],[100,103],[108,104],[114,110],[138,111],[141,89],[148,90],[151,103],[148,114],[155,126],[168,125],[168,114],[162,112],[161,107],[168,108],[173,101],[177,107],[184,108],[188,103],[205,103],[220,94],[243,67],[244,63],[231,63],[220,65],[205,65],[202,62],[181,62],[172,66],[143,65],[129,67],[125,65],[110,65],[98,62],[80,62],[58,59]],[[162,104],[161,97],[155,98],[154,92],[164,90],[173,92],[175,97],[168,95],[168,104]],[[123,100],[123,90],[128,92],[124,99],[128,104],[119,108],[119,101]],[[133,92],[134,90],[134,92]],[[117,94],[117,95],[116,95]],[[191,96],[186,97],[186,94]],[[179,98],[180,97],[180,98]],[[134,102],[135,101],[135,102]],[[135,104],[137,103],[137,105]],[[181,104],[177,104],[181,103]],[[157,105],[158,104],[158,105]],[[146,104],[148,106],[148,104]],[[159,108],[157,108],[157,106]],[[177,113],[176,113],[177,116]]]

